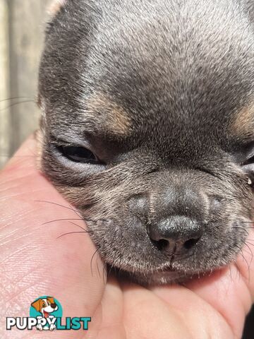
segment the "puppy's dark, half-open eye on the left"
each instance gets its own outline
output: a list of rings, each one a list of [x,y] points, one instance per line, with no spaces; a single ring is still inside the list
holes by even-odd
[[[97,164],[100,162],[94,153],[84,147],[61,145],[57,147],[57,150],[73,162],[85,162],[88,164]]]

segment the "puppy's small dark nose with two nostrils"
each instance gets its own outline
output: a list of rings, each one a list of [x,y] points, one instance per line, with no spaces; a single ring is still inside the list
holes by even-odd
[[[191,218],[171,216],[148,227],[150,239],[160,251],[183,254],[200,240],[203,226]]]

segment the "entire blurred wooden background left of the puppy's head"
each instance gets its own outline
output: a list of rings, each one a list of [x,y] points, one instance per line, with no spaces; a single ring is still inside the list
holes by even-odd
[[[37,69],[52,0],[0,0],[0,167],[37,128]]]

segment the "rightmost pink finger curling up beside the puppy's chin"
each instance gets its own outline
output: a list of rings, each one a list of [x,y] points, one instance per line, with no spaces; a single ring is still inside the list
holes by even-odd
[[[253,230],[250,231],[250,237],[253,237],[252,233]],[[190,324],[195,324],[195,314],[199,314],[201,319],[206,314],[205,309],[212,307],[217,311],[216,316],[222,316],[229,325],[234,337],[241,338],[246,314],[250,310],[254,295],[252,251],[243,248],[243,253],[244,260],[240,254],[236,263],[231,263],[211,275],[191,280],[186,283],[186,287],[152,287],[152,290],[172,307],[181,310]],[[200,307],[199,300],[205,301]],[[191,313],[186,311],[190,307],[193,308]]]

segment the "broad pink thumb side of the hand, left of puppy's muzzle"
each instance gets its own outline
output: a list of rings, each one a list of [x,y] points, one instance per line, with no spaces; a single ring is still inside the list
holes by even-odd
[[[92,316],[104,292],[104,266],[99,256],[92,260],[85,222],[37,170],[36,152],[32,136],[0,173],[0,276],[8,286],[0,292],[0,318],[29,316],[42,295],[56,297],[65,316]],[[20,338],[11,332],[0,336]]]

